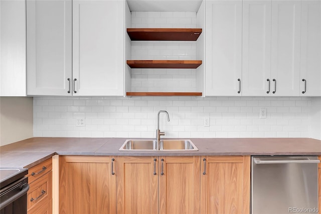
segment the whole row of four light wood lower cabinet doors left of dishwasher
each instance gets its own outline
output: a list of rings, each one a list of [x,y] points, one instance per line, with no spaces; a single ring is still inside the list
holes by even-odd
[[[60,156],[59,171],[60,213],[249,213],[250,156]]]

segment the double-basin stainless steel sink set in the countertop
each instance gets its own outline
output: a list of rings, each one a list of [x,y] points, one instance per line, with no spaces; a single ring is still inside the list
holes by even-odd
[[[157,151],[155,140],[126,140],[119,151]],[[159,151],[197,151],[191,140],[161,140]]]

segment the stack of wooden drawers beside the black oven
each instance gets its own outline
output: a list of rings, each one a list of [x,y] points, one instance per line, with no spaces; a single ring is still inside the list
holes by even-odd
[[[52,213],[52,159],[28,169],[28,214]]]

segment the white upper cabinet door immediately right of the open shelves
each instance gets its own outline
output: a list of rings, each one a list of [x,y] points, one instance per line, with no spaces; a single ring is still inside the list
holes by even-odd
[[[242,1],[206,1],[205,95],[241,95]]]

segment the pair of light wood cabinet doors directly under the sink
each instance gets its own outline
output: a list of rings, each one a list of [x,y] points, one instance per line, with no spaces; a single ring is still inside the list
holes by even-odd
[[[200,157],[117,157],[117,213],[199,213],[199,207]]]

